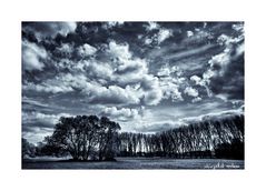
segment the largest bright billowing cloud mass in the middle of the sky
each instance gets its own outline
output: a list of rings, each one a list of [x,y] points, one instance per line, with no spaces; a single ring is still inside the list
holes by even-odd
[[[90,53],[95,49],[89,48]],[[69,43],[58,48],[61,52],[71,52]],[[91,51],[92,50],[92,51]],[[80,61],[71,57],[59,58],[55,62],[59,73],[55,78],[41,82],[27,82],[23,91],[45,93],[76,93],[87,97],[90,103],[122,103],[138,104],[141,101],[155,105],[162,99],[158,79],[148,73],[147,61],[132,57],[128,44],[109,43],[107,57],[110,59],[101,62],[95,58]],[[116,58],[117,61],[112,61]],[[65,73],[68,69],[68,73]]]

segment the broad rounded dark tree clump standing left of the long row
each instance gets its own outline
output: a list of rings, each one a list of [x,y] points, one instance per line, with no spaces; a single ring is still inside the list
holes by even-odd
[[[62,117],[56,124],[53,134],[47,140],[53,150],[67,151],[73,160],[95,159],[96,155],[99,160],[111,160],[116,153],[118,130],[119,124],[105,117]]]

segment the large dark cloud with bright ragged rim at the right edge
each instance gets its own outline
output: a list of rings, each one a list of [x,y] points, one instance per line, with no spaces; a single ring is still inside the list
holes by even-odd
[[[220,34],[217,38],[224,50],[211,57],[204,73],[211,92],[227,99],[244,98],[244,30],[240,27],[237,30],[236,37]]]

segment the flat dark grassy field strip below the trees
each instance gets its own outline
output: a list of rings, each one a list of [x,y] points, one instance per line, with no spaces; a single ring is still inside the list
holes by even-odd
[[[28,159],[22,169],[244,169],[243,160],[117,158],[117,161],[72,162],[58,159]]]

